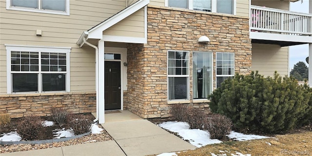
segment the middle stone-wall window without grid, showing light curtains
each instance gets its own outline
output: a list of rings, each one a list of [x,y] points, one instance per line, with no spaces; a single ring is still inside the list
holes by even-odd
[[[212,93],[212,53],[193,53],[193,98],[208,98]]]

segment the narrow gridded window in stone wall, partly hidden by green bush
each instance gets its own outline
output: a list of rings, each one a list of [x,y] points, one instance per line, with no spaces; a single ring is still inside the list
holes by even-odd
[[[234,77],[234,53],[216,53],[216,87]]]

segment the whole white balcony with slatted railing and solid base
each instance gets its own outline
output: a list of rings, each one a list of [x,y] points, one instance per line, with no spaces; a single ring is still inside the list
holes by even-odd
[[[251,6],[252,43],[291,46],[312,43],[312,14]]]

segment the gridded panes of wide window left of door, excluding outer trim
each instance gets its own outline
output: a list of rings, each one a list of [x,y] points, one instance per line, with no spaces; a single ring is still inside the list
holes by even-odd
[[[12,92],[66,91],[66,67],[66,53],[11,51]]]

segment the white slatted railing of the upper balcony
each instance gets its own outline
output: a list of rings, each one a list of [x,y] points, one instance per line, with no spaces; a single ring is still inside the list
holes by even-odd
[[[312,35],[312,14],[251,6],[250,29],[288,35]]]

